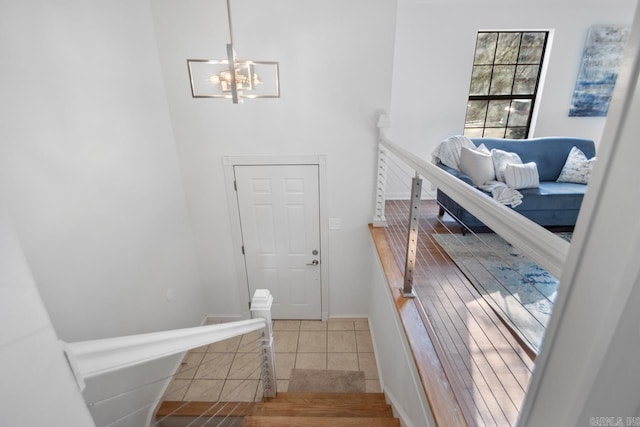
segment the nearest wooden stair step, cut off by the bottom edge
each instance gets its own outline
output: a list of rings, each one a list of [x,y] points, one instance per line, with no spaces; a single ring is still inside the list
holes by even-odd
[[[396,418],[248,416],[243,427],[400,427]]]

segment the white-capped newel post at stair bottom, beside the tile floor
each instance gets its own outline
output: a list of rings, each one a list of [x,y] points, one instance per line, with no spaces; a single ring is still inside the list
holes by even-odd
[[[262,367],[262,386],[264,397],[276,397],[275,355],[273,352],[273,333],[271,330],[271,304],[273,297],[267,289],[256,289],[251,300],[251,317],[265,319],[266,325],[258,333],[260,366]]]

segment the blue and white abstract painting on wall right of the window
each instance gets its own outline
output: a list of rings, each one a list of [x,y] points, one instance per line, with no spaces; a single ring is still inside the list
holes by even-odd
[[[589,28],[571,100],[570,117],[607,115],[628,34],[628,28]]]

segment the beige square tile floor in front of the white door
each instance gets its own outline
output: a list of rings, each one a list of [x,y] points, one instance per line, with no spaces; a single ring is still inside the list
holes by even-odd
[[[262,398],[257,332],[191,350],[164,400],[254,401]],[[366,391],[380,392],[367,319],[275,320],[278,391],[293,368],[364,371]]]

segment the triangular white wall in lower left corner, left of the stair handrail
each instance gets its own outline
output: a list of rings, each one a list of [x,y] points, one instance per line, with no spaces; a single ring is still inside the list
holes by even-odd
[[[0,206],[0,425],[92,425],[4,206]]]

